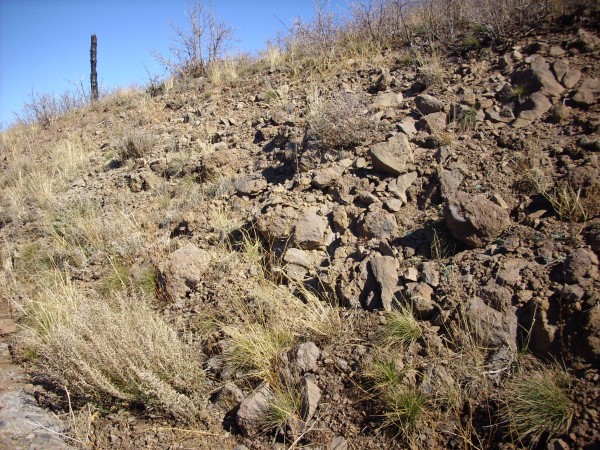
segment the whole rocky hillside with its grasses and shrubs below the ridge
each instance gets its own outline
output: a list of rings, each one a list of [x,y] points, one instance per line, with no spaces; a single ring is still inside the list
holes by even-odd
[[[83,447],[598,448],[599,51],[262,60],[6,131],[30,391]]]

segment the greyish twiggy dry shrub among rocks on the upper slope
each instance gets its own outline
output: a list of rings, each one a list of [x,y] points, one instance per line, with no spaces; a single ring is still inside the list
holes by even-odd
[[[364,98],[338,92],[322,100],[314,97],[309,107],[308,136],[326,150],[343,150],[367,141],[376,129]]]

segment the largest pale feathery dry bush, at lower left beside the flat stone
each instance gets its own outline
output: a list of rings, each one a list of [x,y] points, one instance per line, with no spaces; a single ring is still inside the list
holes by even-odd
[[[24,341],[41,376],[99,403],[135,402],[196,419],[201,366],[144,297],[85,298],[57,272],[25,311]]]

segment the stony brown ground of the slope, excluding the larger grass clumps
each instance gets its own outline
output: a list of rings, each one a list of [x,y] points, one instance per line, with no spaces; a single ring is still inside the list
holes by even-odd
[[[33,134],[31,148],[67,140],[85,155],[53,192],[53,233],[63,227],[69,241],[73,206],[92,205],[94,223],[116,228],[117,281],[156,274],[155,308],[191,336],[207,373],[201,426],[109,408],[90,422],[89,442],[517,448],[528,441],[503,421],[510,387],[558,365],[572,377],[574,415],[539,448],[546,438],[548,448],[596,448],[599,50],[593,29],[550,28],[420,67],[395,51],[344,61],[314,83],[258,65],[223,85],[115,95]],[[14,170],[8,154],[2,164]],[[57,254],[40,203],[17,214],[4,192],[7,276],[53,251],[82,290],[106,289],[116,258]],[[260,244],[254,262],[248,240]],[[257,302],[265,277],[305,301],[315,294],[348,325],[279,355],[302,411],[270,427],[261,415],[273,380],[224,363],[229,315],[240,299]],[[420,333],[386,346],[381,329],[403,306]],[[227,326],[207,332],[207,317]],[[384,395],[365,382],[382,358],[425,399],[416,429],[389,425]]]

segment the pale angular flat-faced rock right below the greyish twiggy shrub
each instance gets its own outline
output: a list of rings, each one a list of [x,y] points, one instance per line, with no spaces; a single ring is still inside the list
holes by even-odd
[[[406,135],[399,133],[392,136],[387,142],[380,142],[371,146],[370,154],[373,169],[401,175],[412,168],[413,151]]]

